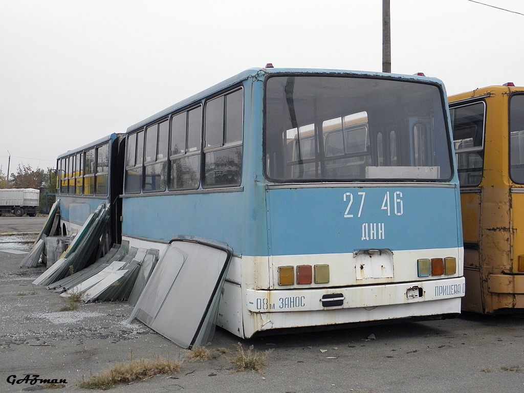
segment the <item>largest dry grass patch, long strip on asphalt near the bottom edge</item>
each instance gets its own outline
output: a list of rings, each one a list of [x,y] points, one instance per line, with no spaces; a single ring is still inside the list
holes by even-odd
[[[152,359],[135,359],[128,363],[117,363],[112,368],[82,380],[78,386],[83,389],[111,389],[117,384],[129,384],[158,374],[172,374],[180,369],[179,362],[154,356]]]

